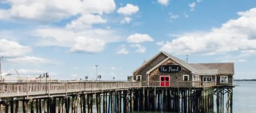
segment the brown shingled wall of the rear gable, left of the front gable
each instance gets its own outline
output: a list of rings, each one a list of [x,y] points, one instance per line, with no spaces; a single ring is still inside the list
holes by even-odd
[[[136,80],[136,75],[141,75],[142,81],[147,81],[147,71],[151,68],[155,67],[158,63],[162,62],[168,56],[161,53],[156,58],[154,58],[151,62],[146,64],[144,67],[140,68],[137,72],[133,74],[133,80]]]

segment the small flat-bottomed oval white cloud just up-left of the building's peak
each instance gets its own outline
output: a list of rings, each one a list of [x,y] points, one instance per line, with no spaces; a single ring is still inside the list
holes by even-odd
[[[154,39],[151,38],[148,34],[139,33],[131,34],[130,36],[128,36],[126,40],[129,43],[142,43],[145,41],[154,41]]]

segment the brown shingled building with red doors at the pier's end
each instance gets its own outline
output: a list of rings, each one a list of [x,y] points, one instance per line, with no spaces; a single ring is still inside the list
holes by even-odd
[[[180,65],[178,73],[161,73],[161,65]],[[137,81],[215,81],[216,85],[232,86],[234,63],[187,63],[180,58],[160,51],[133,71],[133,80]],[[170,82],[171,83],[171,82]]]

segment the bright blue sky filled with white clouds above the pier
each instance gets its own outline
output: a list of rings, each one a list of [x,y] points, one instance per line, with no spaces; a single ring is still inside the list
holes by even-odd
[[[0,0],[2,73],[127,80],[160,50],[256,79],[255,0]]]

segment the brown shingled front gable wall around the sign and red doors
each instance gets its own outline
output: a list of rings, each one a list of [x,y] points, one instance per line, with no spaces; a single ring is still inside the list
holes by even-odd
[[[170,62],[170,63],[168,63],[168,62]],[[166,62],[164,62],[163,65],[179,65],[179,64],[176,63],[175,61],[169,59]],[[189,70],[187,70],[186,68],[184,68],[184,67],[182,67],[182,72],[173,73],[173,74],[159,73],[158,72],[158,68],[156,68],[155,70],[153,70],[149,74],[149,80],[150,81],[159,81],[160,80],[160,75],[170,76],[170,81],[183,81],[183,75],[189,75],[189,81],[192,81],[192,74],[191,74],[191,72]]]

